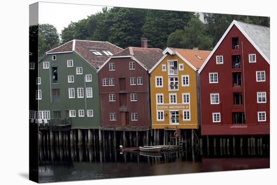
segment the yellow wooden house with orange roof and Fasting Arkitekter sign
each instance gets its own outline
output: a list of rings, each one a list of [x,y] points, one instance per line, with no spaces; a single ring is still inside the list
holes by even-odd
[[[166,48],[149,71],[152,129],[198,129],[197,70],[211,51]]]

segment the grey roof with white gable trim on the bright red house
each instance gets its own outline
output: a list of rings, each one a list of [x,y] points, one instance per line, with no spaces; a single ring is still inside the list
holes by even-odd
[[[228,29],[225,31],[209,57],[205,60],[202,67],[199,69],[199,73],[203,70],[206,63],[213,56],[217,48],[222,43],[223,39],[229,33],[233,26],[236,26],[240,32],[248,39],[248,41],[254,46],[254,48],[261,54],[261,56],[270,64],[270,29],[265,26],[252,25],[234,20]]]

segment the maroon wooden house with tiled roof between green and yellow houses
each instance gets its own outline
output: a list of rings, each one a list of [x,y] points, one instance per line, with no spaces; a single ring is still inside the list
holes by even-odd
[[[128,47],[98,70],[102,129],[149,130],[149,73],[163,56],[158,48]]]

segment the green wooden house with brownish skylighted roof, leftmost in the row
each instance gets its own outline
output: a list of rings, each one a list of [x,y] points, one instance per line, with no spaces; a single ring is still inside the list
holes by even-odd
[[[40,124],[99,128],[97,69],[122,49],[109,42],[72,40],[39,61],[34,113]]]

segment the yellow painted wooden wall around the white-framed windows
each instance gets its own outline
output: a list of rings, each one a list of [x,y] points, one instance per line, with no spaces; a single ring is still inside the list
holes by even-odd
[[[178,62],[178,74],[168,75],[168,60],[177,60]],[[179,64],[183,63],[184,70],[179,70]],[[166,71],[162,71],[162,64],[166,64]],[[182,86],[182,75],[189,75],[189,86]],[[196,82],[196,71],[194,71],[189,65],[187,65],[177,55],[168,55],[164,60],[151,72],[150,74],[150,88],[151,88],[151,114],[152,114],[152,128],[153,129],[164,129],[172,128],[176,126],[179,129],[197,129],[197,82]],[[156,87],[155,76],[163,76],[163,87]],[[178,76],[178,91],[169,90],[168,77]],[[177,94],[177,104],[182,104],[182,93],[190,93],[190,121],[183,121],[183,112],[179,109],[179,124],[170,124],[169,111],[164,111],[164,121],[157,121],[157,104],[156,94],[164,94],[164,104],[169,104],[169,94]],[[183,104],[184,105],[184,104]],[[158,105],[160,106],[160,105]],[[177,109],[176,109],[177,110]]]

